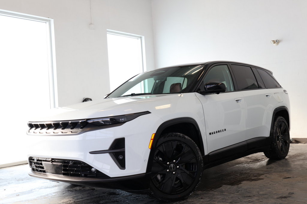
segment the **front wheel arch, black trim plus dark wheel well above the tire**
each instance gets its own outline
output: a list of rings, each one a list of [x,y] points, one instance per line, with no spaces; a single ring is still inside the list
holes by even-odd
[[[153,139],[152,147],[151,147],[149,158],[148,158],[146,172],[150,172],[151,170],[150,161],[152,161],[153,159],[153,150],[155,149],[157,145],[158,139],[162,135],[171,133],[171,132],[181,133],[191,138],[198,146],[200,153],[204,155],[204,143],[203,143],[203,139],[202,139],[201,132],[200,132],[197,122],[193,118],[190,118],[190,117],[171,119],[169,121],[165,121],[164,123],[162,123],[158,127],[155,133],[155,137]]]

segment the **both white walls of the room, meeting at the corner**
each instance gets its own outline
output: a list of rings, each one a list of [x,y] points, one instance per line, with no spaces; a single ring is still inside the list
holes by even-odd
[[[291,137],[307,137],[307,1],[91,0],[95,30],[89,29],[89,2],[0,0],[0,9],[54,19],[59,106],[109,92],[111,29],[145,36],[147,70],[212,60],[272,70],[290,93]],[[272,45],[273,39],[280,44]]]

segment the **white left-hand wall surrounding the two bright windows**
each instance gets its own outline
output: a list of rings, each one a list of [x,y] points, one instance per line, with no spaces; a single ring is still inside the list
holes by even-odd
[[[0,0],[0,9],[54,19],[59,106],[109,92],[107,29],[145,36],[146,68],[154,69],[150,0]],[[129,76],[127,76],[129,77]]]

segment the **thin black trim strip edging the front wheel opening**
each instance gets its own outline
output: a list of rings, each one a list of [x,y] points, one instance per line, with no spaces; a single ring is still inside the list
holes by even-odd
[[[204,143],[203,143],[203,139],[202,139],[201,132],[200,132],[200,129],[199,129],[197,122],[191,117],[174,118],[174,119],[171,119],[169,121],[163,122],[158,127],[158,129],[155,133],[155,137],[153,139],[152,147],[151,147],[150,154],[149,154],[149,157],[148,157],[148,164],[147,164],[147,168],[146,168],[146,173],[151,171],[151,162],[150,161],[153,160],[153,153],[154,153],[153,150],[155,149],[155,147],[157,145],[158,139],[161,137],[161,133],[166,128],[168,128],[172,125],[180,124],[180,123],[190,123],[190,124],[194,125],[194,127],[196,128],[196,131],[197,131],[197,139],[198,139],[198,142],[199,142],[199,149],[200,149],[201,154],[204,155]]]

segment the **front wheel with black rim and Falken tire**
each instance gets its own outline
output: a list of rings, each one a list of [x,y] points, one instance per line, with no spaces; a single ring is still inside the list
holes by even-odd
[[[195,142],[180,133],[163,135],[152,161],[150,193],[163,201],[181,200],[200,183],[203,159]]]

